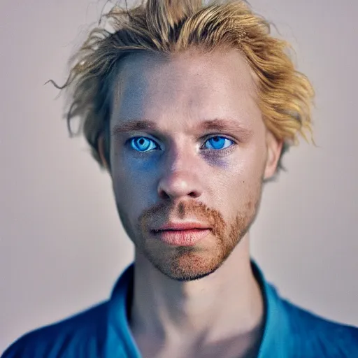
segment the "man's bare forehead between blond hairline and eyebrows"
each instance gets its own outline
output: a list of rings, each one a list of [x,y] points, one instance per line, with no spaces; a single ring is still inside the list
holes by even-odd
[[[255,80],[236,50],[187,50],[164,57],[141,53],[121,62],[113,86],[113,119],[261,115]]]

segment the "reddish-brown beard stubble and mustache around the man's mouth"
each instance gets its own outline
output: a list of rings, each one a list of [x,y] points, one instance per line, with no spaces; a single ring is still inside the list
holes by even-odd
[[[141,250],[155,268],[173,280],[199,280],[222,266],[236,245],[240,243],[255,221],[261,196],[262,182],[251,193],[241,213],[238,213],[230,224],[224,221],[219,211],[208,208],[200,202],[181,202],[176,208],[173,203],[160,203],[145,210],[139,217],[137,229],[141,237],[136,241],[136,249]],[[160,246],[163,245],[162,243],[158,242],[153,245],[153,240],[148,240],[145,233],[148,232],[149,227],[157,227],[158,224],[165,222],[163,218],[168,219],[169,213],[177,213],[182,220],[192,216],[210,224],[213,228],[212,235],[217,243],[215,250],[202,250],[196,246],[179,246],[166,252],[163,246]]]

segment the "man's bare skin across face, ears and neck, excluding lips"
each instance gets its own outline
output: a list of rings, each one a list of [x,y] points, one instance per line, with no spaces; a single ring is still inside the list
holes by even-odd
[[[128,131],[133,122],[142,127]],[[127,57],[110,133],[117,210],[136,247],[129,322],[143,357],[255,357],[264,308],[249,229],[282,143],[264,125],[245,59],[236,50]],[[169,221],[210,231],[173,246],[151,231]]]

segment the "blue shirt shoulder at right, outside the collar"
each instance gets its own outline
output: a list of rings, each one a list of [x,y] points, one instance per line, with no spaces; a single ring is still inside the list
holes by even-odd
[[[295,352],[302,357],[358,357],[358,328],[315,315],[281,299]]]

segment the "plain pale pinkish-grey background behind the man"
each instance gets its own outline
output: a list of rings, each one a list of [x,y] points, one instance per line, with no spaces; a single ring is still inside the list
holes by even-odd
[[[103,1],[0,2],[0,352],[24,332],[107,299],[134,248],[110,178],[62,119],[66,62]],[[315,141],[268,184],[252,256],[280,294],[358,325],[357,17],[352,0],[252,0],[317,92]]]

